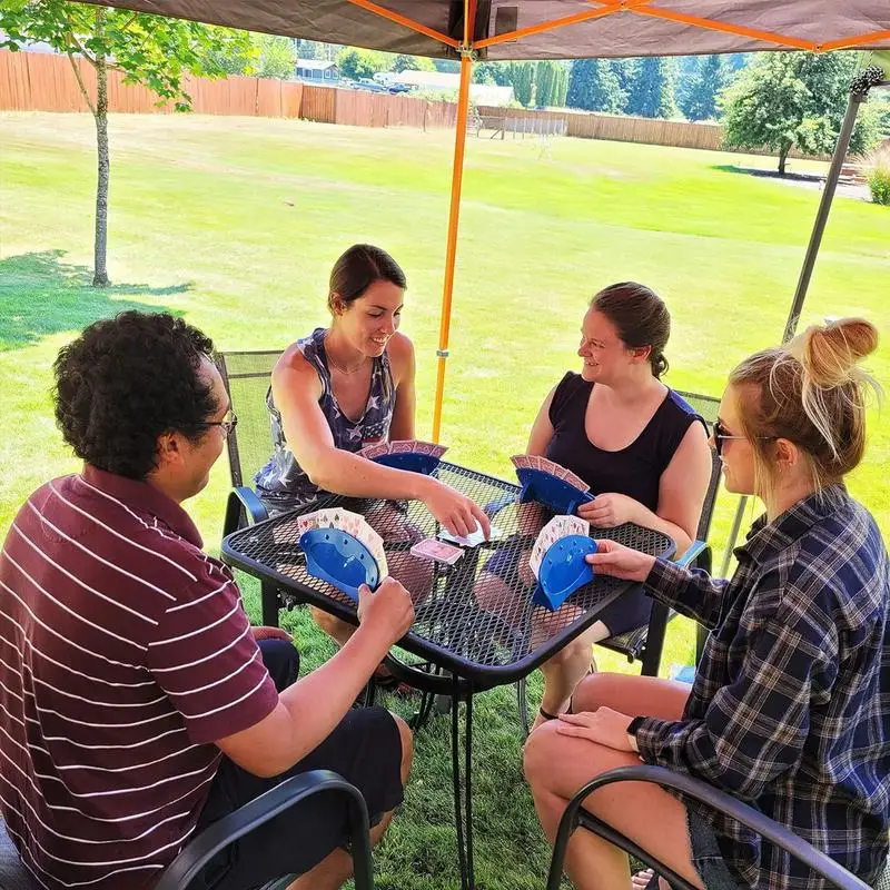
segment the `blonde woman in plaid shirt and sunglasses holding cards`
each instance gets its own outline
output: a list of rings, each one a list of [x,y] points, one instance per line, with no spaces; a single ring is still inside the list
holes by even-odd
[[[711,634],[691,690],[596,674],[576,692],[574,714],[532,734],[525,773],[551,840],[581,785],[642,759],[752,803],[877,880],[890,828],[890,568],[873,518],[843,486],[862,458],[867,393],[877,389],[859,362],[877,345],[868,322],[842,319],[756,353],[730,376],[712,444],[726,488],[767,507],[735,552],[732,580],[612,542],[591,557],[597,572],[645,582]],[[613,785],[585,805],[705,890],[827,887],[721,813],[654,785]],[[626,856],[586,831],[573,837],[566,870],[578,890],[631,884]]]

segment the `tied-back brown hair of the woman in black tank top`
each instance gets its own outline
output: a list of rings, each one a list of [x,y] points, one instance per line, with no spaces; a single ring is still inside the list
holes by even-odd
[[[649,363],[655,377],[668,370],[664,347],[671,336],[671,315],[654,290],[636,281],[621,281],[601,290],[591,300],[591,308],[615,326],[625,346],[652,347]]]

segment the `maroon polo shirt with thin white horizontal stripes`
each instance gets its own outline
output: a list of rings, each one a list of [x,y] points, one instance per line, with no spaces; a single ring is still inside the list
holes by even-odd
[[[151,887],[195,829],[214,740],[277,700],[180,506],[90,466],[31,495],[0,554],[0,809],[40,884]]]

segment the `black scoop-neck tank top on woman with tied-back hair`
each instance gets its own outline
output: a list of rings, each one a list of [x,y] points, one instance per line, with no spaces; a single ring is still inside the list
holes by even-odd
[[[592,389],[593,384],[580,374],[568,372],[562,378],[550,406],[553,438],[546,457],[581,476],[591,486],[591,494],[623,494],[654,513],[662,473],[690,426],[695,421],[704,425],[704,421],[669,389],[652,419],[626,448],[603,451],[587,438],[584,425]]]

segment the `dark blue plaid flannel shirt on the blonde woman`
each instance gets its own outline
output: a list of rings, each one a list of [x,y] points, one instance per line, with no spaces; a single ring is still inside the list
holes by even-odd
[[[841,486],[735,551],[731,581],[659,561],[646,586],[713,629],[682,720],[647,718],[642,759],[754,805],[867,883],[890,828],[890,570],[869,513]],[[690,799],[742,887],[828,882]]]

